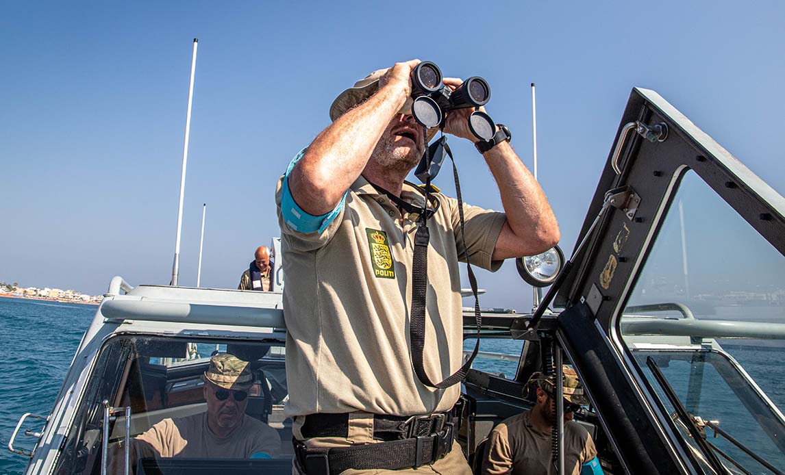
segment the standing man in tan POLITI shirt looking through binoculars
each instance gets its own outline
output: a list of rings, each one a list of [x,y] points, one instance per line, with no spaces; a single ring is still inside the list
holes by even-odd
[[[545,194],[508,140],[484,158],[504,212],[462,205],[404,181],[425,150],[411,116],[411,60],[342,92],[333,123],[290,163],[276,202],[287,286],[287,379],[296,471],[470,473],[452,431],[460,385],[435,389],[412,368],[409,316],[415,234],[426,208],[428,375],[462,363],[458,261],[497,270],[559,241]],[[461,80],[445,78],[455,89]],[[476,140],[470,109],[449,111],[444,132]],[[419,243],[422,245],[422,242]],[[413,417],[415,416],[415,417]],[[403,461],[403,462],[402,462]],[[360,471],[356,471],[360,470]]]

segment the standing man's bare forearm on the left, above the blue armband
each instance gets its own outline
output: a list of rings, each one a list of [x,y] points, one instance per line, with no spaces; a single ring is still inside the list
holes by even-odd
[[[406,98],[400,85],[385,85],[316,136],[288,179],[294,201],[305,212],[319,216],[338,205]]]

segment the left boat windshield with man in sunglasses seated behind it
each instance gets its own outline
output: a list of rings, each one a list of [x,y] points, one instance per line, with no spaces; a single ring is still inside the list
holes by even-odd
[[[104,463],[108,473],[123,473],[126,445],[129,473],[164,467],[250,473],[276,463],[290,470],[283,345],[148,335],[109,339],[86,383],[56,473],[100,473]],[[248,362],[250,388],[227,390],[205,381],[210,357],[227,353]]]

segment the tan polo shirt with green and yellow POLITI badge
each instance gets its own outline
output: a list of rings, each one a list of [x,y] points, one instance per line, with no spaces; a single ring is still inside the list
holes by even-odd
[[[345,207],[323,232],[301,233],[281,214],[283,179],[276,192],[287,322],[288,415],[364,411],[418,415],[446,411],[460,385],[435,390],[420,383],[411,364],[409,312],[417,216],[400,211],[362,176]],[[462,363],[462,300],[458,260],[458,201],[435,194],[429,219],[429,285],[424,366],[434,381]],[[401,198],[422,206],[420,191],[404,184]],[[464,205],[469,260],[497,270],[491,255],[506,217]]]

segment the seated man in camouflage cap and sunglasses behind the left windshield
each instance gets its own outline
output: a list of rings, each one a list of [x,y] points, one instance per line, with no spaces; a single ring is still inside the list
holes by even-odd
[[[163,419],[131,441],[131,460],[148,457],[257,459],[279,451],[278,432],[245,414],[254,375],[231,354],[210,358],[204,373],[207,411]],[[120,459],[120,460],[117,460]],[[115,457],[122,463],[122,456]]]

